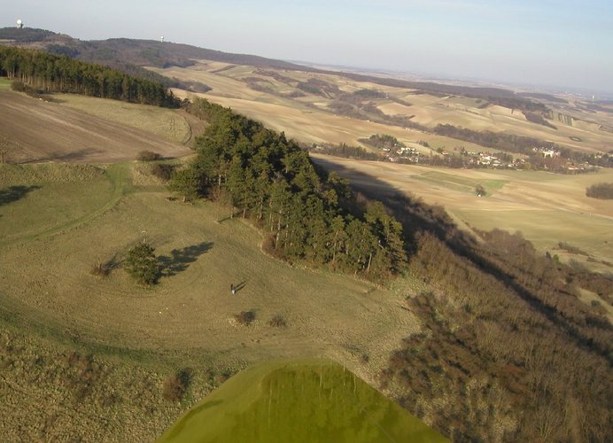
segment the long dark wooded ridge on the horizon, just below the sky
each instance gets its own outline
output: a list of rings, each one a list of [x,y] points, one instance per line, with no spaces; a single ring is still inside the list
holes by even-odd
[[[184,67],[193,65],[195,63],[193,60],[212,60],[229,63],[231,65],[256,66],[318,74],[337,74],[355,82],[373,82],[395,88],[416,89],[432,95],[457,95],[480,98],[485,100],[484,106],[493,104],[529,112],[547,112],[547,107],[545,105],[535,102],[529,97],[522,97],[508,89],[467,87],[436,82],[411,82],[369,74],[330,71],[297,65],[272,58],[213,51],[190,44],[161,43],[155,40],[136,40],[128,38],[81,41],[69,35],[57,34],[43,29],[18,29],[16,27],[0,28],[0,43],[2,43],[3,40],[5,41],[4,44],[35,47],[43,49],[44,51],[66,55],[71,58],[79,58],[85,61],[111,66],[115,69],[124,70],[128,72],[128,74],[137,74],[136,66]],[[148,76],[151,78],[151,74]],[[183,84],[178,81],[172,84],[167,82],[167,86],[191,89],[198,92],[206,92],[206,90],[208,90],[206,85]],[[532,98],[535,97],[532,96]]]

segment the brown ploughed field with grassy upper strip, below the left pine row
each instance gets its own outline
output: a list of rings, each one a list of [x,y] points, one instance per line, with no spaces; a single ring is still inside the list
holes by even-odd
[[[156,135],[151,125],[144,126],[137,120],[153,118],[160,127],[167,127],[168,136],[175,128],[174,141],[184,141],[189,138],[189,126],[176,111],[113,101],[110,105],[114,111],[108,113],[123,115],[120,122],[99,115],[108,108],[105,99],[81,97],[73,100],[78,102],[75,107],[61,103],[61,97],[56,100],[45,102],[0,89],[0,134],[7,144],[7,160],[110,162],[135,159],[141,151],[159,152],[165,157],[182,157],[191,152],[167,136]],[[64,101],[70,102],[66,98]],[[88,113],[88,107],[96,108],[98,115]],[[126,111],[121,113],[121,108]]]

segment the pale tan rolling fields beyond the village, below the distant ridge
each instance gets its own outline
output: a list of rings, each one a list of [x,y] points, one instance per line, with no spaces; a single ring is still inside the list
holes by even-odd
[[[359,144],[359,138],[379,133],[391,134],[401,142],[409,144],[424,140],[434,149],[443,146],[447,149],[463,146],[469,151],[490,151],[476,144],[468,144],[446,137],[424,135],[419,131],[334,115],[325,111],[330,105],[330,99],[319,95],[307,94],[306,97],[293,100],[278,97],[279,93],[290,92],[293,88],[271,77],[257,74],[256,69],[250,66],[236,66],[217,74],[214,73],[215,69],[210,67],[210,62],[187,68],[170,67],[154,70],[159,74],[174,76],[185,81],[205,82],[212,86],[213,90],[204,94],[203,97],[214,103],[230,106],[239,113],[260,120],[271,128],[284,131],[289,136],[309,144]],[[613,118],[604,113],[598,113],[598,115],[586,113],[577,107],[572,107],[571,110],[576,117],[572,126],[554,121],[555,126],[558,127],[555,130],[531,123],[520,111],[499,105],[481,109],[484,102],[474,98],[434,97],[429,94],[407,95],[407,89],[385,87],[369,82],[353,82],[335,74],[307,74],[292,71],[279,71],[279,74],[295,82],[305,82],[311,78],[321,79],[348,93],[364,88],[381,90],[388,97],[402,99],[412,105],[405,106],[391,100],[380,99],[376,100],[376,105],[380,110],[389,115],[414,115],[415,122],[431,128],[438,123],[449,123],[474,130],[510,132],[550,140],[584,152],[607,151],[608,146],[613,143],[613,134],[600,129],[600,124],[613,127]],[[247,77],[265,79],[268,81],[267,88],[272,89],[274,93],[268,94],[251,89],[245,82],[240,81]],[[184,91],[175,92],[181,97],[186,94]],[[570,112],[562,111],[563,113]],[[595,118],[599,123],[590,122]],[[581,141],[578,142],[578,139]]]

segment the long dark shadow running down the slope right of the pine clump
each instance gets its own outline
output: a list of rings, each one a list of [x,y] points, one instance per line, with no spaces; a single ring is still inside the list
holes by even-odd
[[[538,294],[530,288],[516,282],[516,276],[495,263],[479,246],[474,236],[458,229],[444,208],[426,205],[419,198],[409,197],[403,191],[371,175],[349,169],[327,159],[311,159],[317,166],[328,171],[336,171],[338,175],[350,179],[354,190],[368,198],[382,201],[402,224],[405,248],[409,257],[415,253],[417,248],[415,238],[417,232],[419,230],[430,232],[453,253],[468,259],[481,271],[506,284],[536,312],[568,334],[578,346],[600,355],[609,362],[609,365],[613,364],[613,357],[609,354],[609,349],[594,343],[594,340],[583,335],[578,327],[572,324],[572,320],[564,316],[563,312],[540,299]],[[525,269],[524,272],[530,272],[530,269]],[[610,330],[610,324],[604,325],[601,329]]]

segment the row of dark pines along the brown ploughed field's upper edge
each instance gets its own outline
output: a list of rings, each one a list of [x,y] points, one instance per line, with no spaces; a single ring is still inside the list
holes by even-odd
[[[0,75],[42,92],[66,92],[131,103],[179,107],[159,82],[43,51],[0,46]]]

